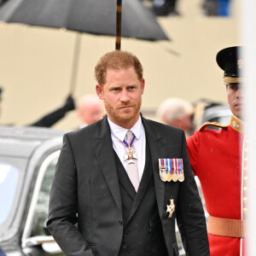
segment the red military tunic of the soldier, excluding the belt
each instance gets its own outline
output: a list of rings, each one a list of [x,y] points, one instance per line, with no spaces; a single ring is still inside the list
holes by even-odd
[[[209,215],[241,219],[241,120],[232,117],[221,131],[200,131],[187,139],[189,157]],[[239,256],[241,239],[208,234],[211,256]]]

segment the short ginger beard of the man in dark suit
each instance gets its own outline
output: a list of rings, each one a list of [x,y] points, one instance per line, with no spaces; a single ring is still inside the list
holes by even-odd
[[[104,106],[106,108],[106,112],[108,117],[115,123],[116,125],[122,126],[125,124],[129,124],[131,121],[135,120],[140,112],[140,108],[142,106],[142,101],[133,103],[131,109],[120,109],[125,106],[131,106],[131,102],[129,104],[124,104],[119,107],[113,107],[109,102],[104,101]]]

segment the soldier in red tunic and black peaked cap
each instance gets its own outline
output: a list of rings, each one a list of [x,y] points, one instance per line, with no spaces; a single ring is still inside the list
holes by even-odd
[[[247,191],[247,158],[243,155],[243,97],[241,91],[241,47],[218,52],[218,66],[224,70],[224,84],[230,110],[230,125],[202,125],[187,139],[189,157],[199,177],[206,201],[211,256],[245,255],[244,237]],[[212,130],[218,126],[220,131]]]

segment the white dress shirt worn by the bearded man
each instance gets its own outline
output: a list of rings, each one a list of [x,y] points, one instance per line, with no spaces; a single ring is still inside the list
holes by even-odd
[[[125,154],[127,154],[127,148],[125,147],[123,141],[125,139],[127,129],[120,127],[119,125],[113,124],[112,121],[108,119],[108,124],[110,126],[111,137],[113,142],[113,149],[116,154],[119,156],[119,160],[125,167],[125,171],[127,172],[128,160],[125,160]],[[146,135],[143,127],[143,122],[141,117],[137,120],[137,123],[131,127],[130,131],[133,132],[136,139],[133,143],[133,146],[136,150],[137,155],[137,166],[138,166],[138,174],[139,180],[141,181],[143,177],[143,171],[145,166],[146,159]]]

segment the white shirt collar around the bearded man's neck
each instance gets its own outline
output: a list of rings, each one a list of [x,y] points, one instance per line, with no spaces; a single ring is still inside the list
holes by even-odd
[[[117,137],[121,142],[123,142],[128,130],[119,125],[115,125],[110,119],[108,119],[108,124],[110,126],[110,131],[113,134],[113,136]],[[137,123],[133,125],[130,129],[130,131],[133,132],[137,140],[141,136],[142,126],[143,122],[140,116],[139,119],[137,120]]]

